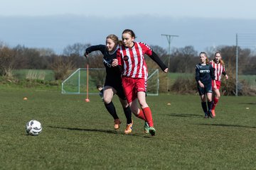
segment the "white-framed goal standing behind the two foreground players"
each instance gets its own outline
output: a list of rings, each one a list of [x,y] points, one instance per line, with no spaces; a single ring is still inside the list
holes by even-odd
[[[104,68],[89,68],[88,94],[99,94],[97,85],[104,85],[106,71]],[[86,94],[87,69],[79,68],[61,84],[61,94]],[[149,69],[147,80],[148,96],[159,95],[159,69]]]

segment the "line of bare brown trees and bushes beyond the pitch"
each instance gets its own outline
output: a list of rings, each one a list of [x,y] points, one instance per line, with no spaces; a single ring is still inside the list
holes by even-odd
[[[0,43],[0,75],[11,77],[14,69],[53,69],[55,79],[65,79],[70,70],[85,67],[86,62],[92,68],[102,68],[102,55],[100,52],[92,52],[88,59],[83,57],[85,49],[90,44],[80,42],[68,45],[63,54],[57,55],[51,49],[29,48],[23,45],[8,47]],[[199,52],[193,46],[173,48],[171,55],[167,50],[157,45],[151,45],[152,49],[159,55],[169,72],[193,73],[195,65],[199,62]],[[236,46],[218,46],[207,48],[206,52],[210,60],[215,52],[221,52],[227,69],[235,73]],[[169,62],[170,61],[170,62]],[[169,62],[169,63],[168,63]],[[157,68],[157,66],[156,66]],[[238,47],[238,74],[255,74],[256,55],[250,49]]]

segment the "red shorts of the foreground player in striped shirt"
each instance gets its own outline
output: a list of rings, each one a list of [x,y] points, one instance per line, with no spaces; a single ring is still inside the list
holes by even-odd
[[[146,81],[143,78],[122,77],[122,85],[128,103],[137,98],[139,91],[146,92]]]

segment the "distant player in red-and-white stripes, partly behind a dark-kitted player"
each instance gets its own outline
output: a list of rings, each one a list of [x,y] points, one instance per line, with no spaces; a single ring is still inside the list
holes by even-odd
[[[225,76],[225,79],[228,79],[228,74],[225,72],[225,64],[222,60],[220,52],[215,52],[214,60],[210,61],[212,64],[215,74],[215,82],[216,82],[216,89],[213,89],[213,107],[212,107],[212,114],[215,117],[215,107],[220,99],[220,84],[221,84],[221,74]],[[213,84],[212,84],[213,86]]]

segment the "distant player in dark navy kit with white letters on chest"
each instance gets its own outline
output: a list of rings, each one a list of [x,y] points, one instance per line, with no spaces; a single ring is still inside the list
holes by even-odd
[[[216,89],[214,70],[209,64],[206,52],[200,52],[200,63],[196,64],[196,82],[198,84],[198,93],[201,98],[201,106],[205,113],[204,118],[213,118],[212,109],[212,81],[213,88]],[[207,104],[206,104],[207,101]],[[208,106],[208,109],[207,109]]]

